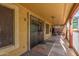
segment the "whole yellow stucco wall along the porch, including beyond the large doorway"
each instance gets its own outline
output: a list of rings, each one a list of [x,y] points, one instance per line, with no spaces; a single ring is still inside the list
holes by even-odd
[[[29,24],[27,24],[27,22],[29,21],[29,19],[27,18],[27,12],[29,12],[29,14],[32,14],[36,17],[39,17],[40,19],[42,19],[45,23],[48,23],[51,26],[51,23],[45,21],[43,18],[41,18],[40,16],[34,14],[33,12],[27,10],[26,8],[24,8],[23,6],[21,6],[20,4],[9,4],[9,5],[16,5],[18,7],[18,11],[19,11],[19,47],[17,49],[14,49],[12,51],[7,51],[6,53],[2,54],[2,55],[21,55],[22,53],[26,52],[28,49],[28,27],[30,26]],[[12,6],[13,7],[13,6]],[[45,30],[45,28],[44,28]],[[44,32],[44,39],[48,39],[51,36],[51,32],[49,34],[45,34]]]

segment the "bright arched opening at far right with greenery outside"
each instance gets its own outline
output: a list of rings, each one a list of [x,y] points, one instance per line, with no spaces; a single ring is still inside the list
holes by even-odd
[[[72,39],[73,39],[73,47],[76,52],[79,53],[79,11],[77,11],[73,15],[73,20],[72,20],[72,25],[73,25],[73,31],[72,31]]]

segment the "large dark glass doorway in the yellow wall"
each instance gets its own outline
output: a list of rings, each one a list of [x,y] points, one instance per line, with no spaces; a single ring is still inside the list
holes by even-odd
[[[40,44],[44,40],[44,23],[34,17],[30,16],[30,49]]]

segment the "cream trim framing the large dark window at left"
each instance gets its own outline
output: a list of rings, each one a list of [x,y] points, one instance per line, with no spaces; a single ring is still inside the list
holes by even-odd
[[[17,49],[19,47],[19,9],[16,5],[13,4],[0,4],[7,8],[15,10],[15,45],[9,45],[3,48],[0,48],[0,55],[7,54],[8,52]]]

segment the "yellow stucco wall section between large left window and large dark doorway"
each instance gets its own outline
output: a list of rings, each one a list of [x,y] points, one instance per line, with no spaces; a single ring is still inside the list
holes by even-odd
[[[12,4],[15,5],[15,4]],[[3,55],[20,55],[27,51],[27,10],[16,4],[19,11],[19,47],[13,51],[9,51]],[[26,19],[26,21],[24,21]]]

